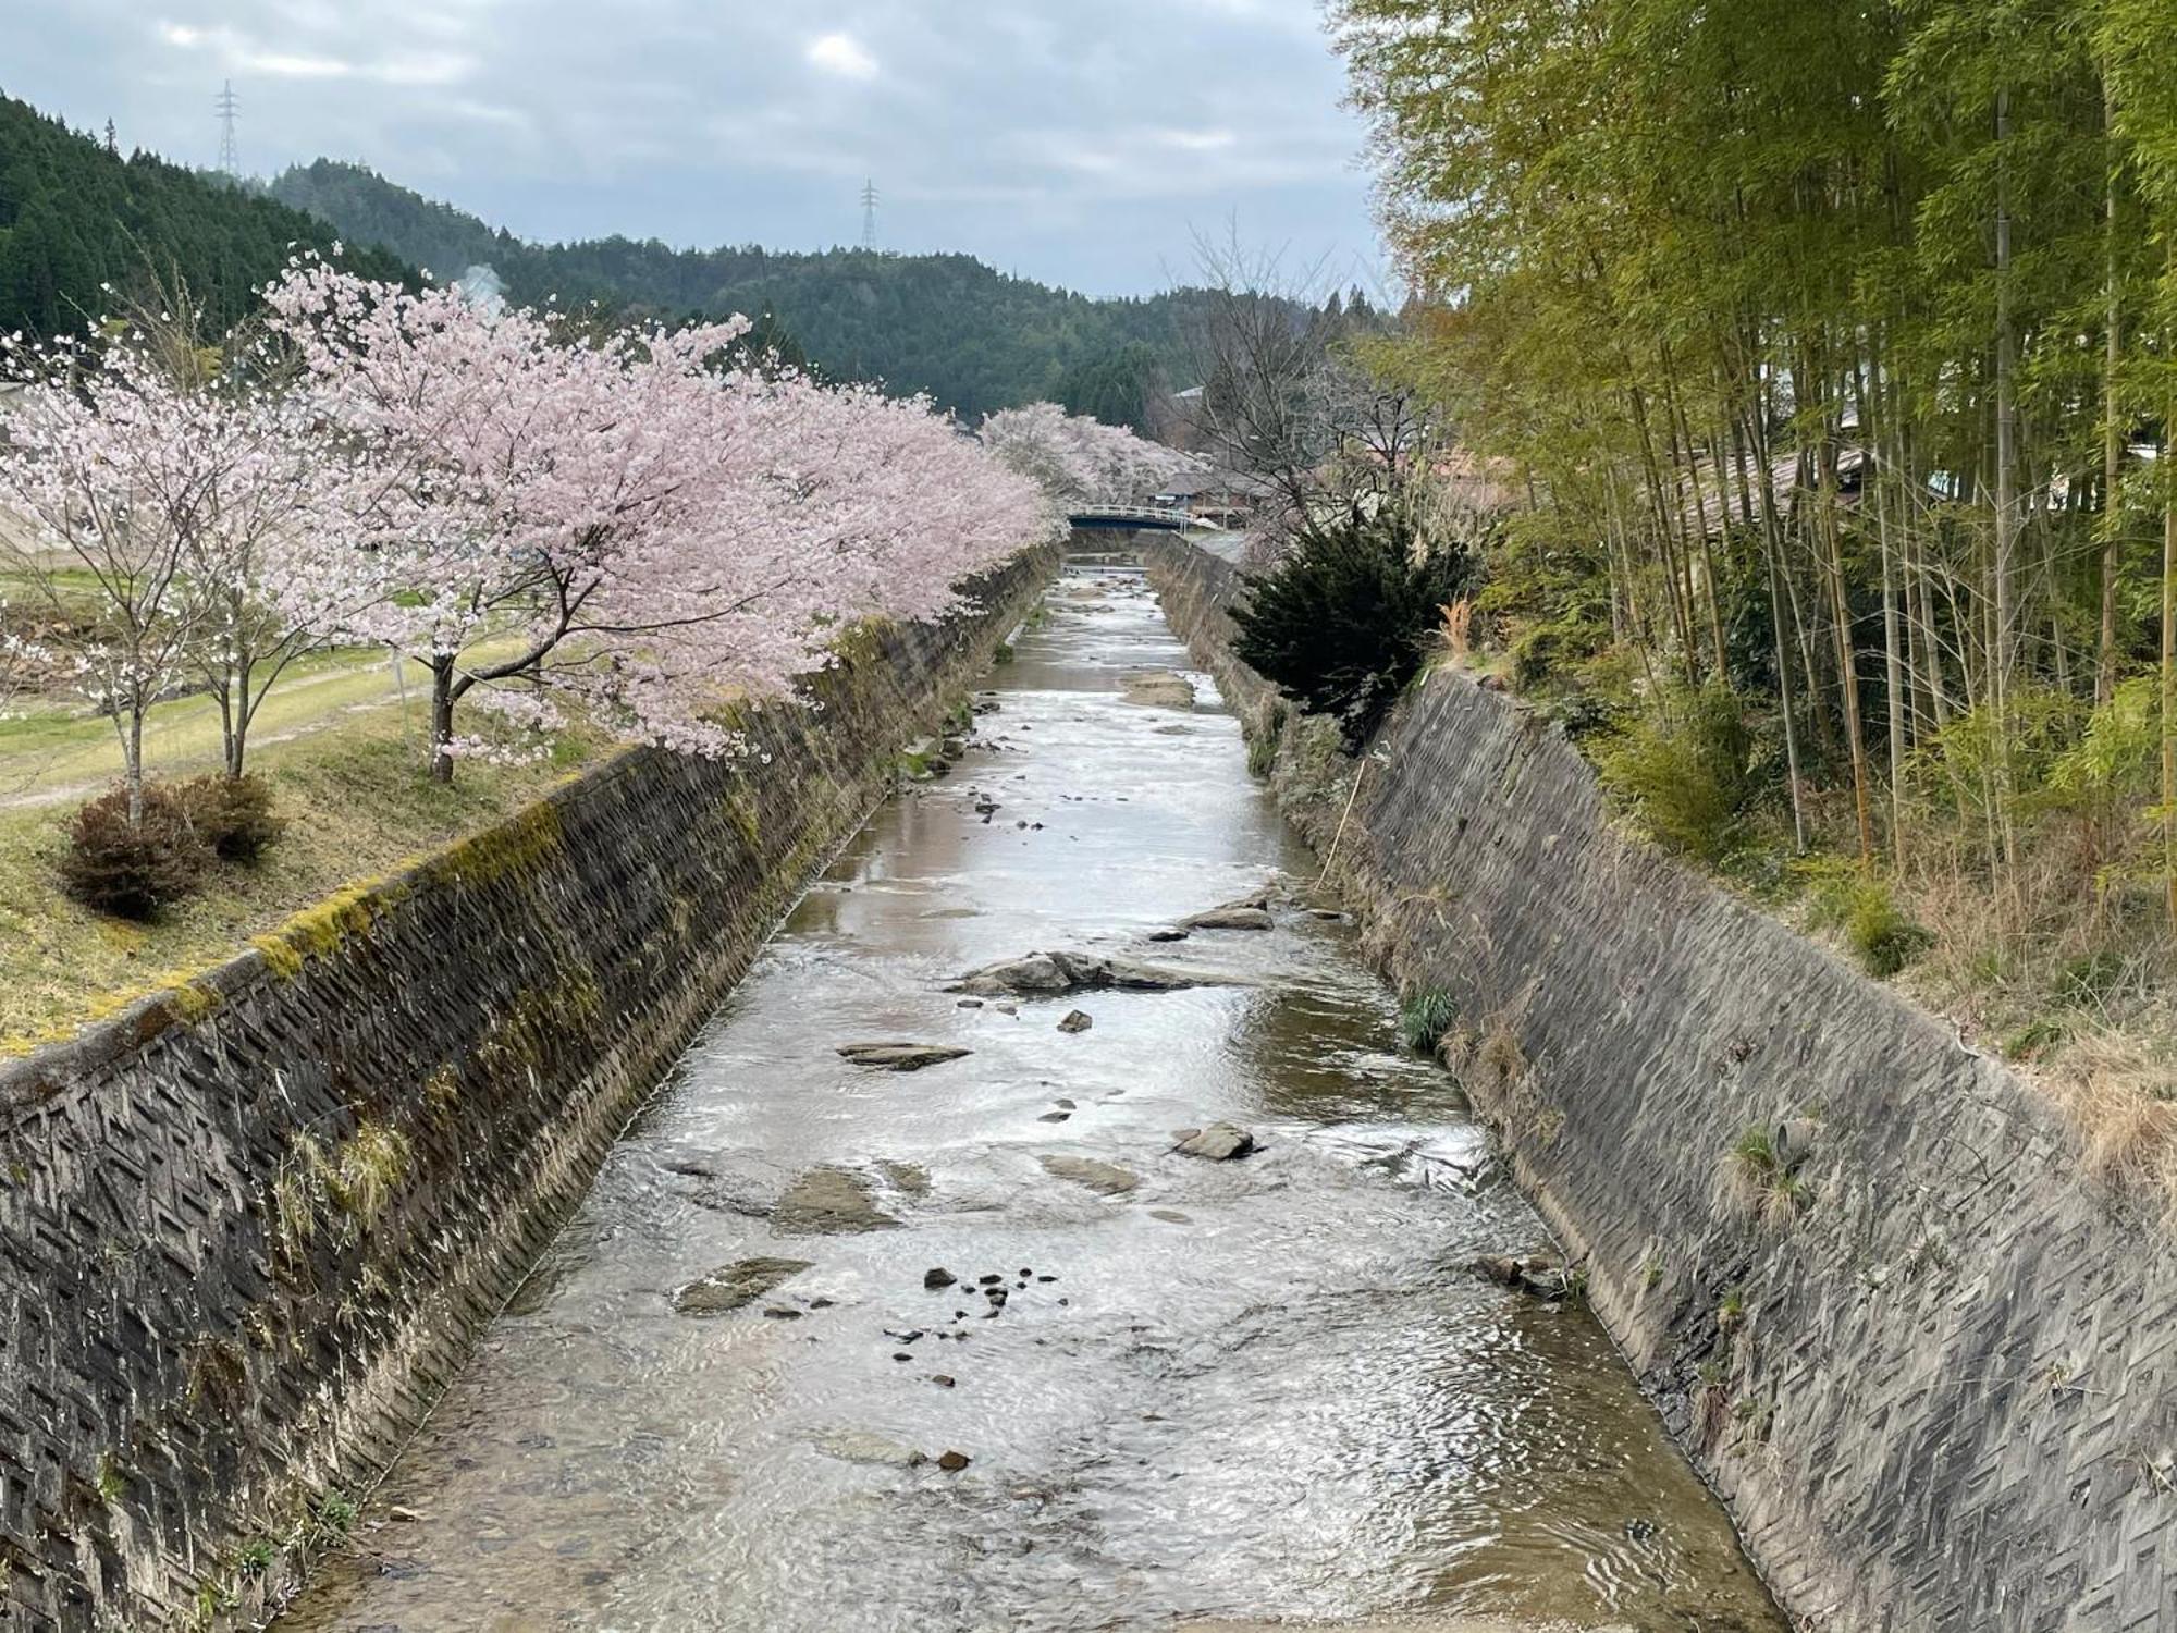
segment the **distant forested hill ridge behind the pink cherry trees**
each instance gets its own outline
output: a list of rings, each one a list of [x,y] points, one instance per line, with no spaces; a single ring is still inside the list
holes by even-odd
[[[1054,398],[1139,422],[1145,392],[1186,372],[1186,296],[1091,300],[969,255],[675,250],[627,237],[527,244],[329,159],[287,170],[272,196],[438,277],[490,266],[518,303],[557,294],[660,316],[771,314],[819,368],[930,392],[969,418]]]

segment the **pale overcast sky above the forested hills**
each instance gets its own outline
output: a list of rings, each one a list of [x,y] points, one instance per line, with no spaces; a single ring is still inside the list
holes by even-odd
[[[1197,229],[1378,268],[1317,0],[0,0],[0,89],[122,146],[359,159],[525,237],[967,250],[1147,294]]]

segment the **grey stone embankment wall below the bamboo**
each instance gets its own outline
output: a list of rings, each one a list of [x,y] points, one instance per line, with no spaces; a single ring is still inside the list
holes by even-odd
[[[1548,725],[1454,673],[1358,766],[1165,610],[1450,1058],[1776,1598],[1824,1633],[2177,1629],[2177,1254],[2055,1108],[1611,825]],[[1354,793],[1354,773],[1361,773]],[[1350,801],[1350,806],[1348,806]],[[1731,1158],[1783,1126],[1779,1171]],[[1766,1215],[1766,1217],[1761,1217]]]

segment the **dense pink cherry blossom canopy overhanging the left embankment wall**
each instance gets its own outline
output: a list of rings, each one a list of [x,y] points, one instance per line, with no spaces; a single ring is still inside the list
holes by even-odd
[[[431,769],[468,699],[718,753],[727,695],[784,695],[840,623],[930,616],[1051,527],[927,403],[734,364],[747,322],[594,333],[322,261],[268,290],[303,401],[366,477],[298,540],[298,616],[431,673]]]

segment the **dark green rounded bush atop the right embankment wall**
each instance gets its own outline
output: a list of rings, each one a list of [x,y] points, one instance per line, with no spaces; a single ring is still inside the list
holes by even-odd
[[[1398,509],[1311,523],[1234,607],[1232,651],[1358,751],[1422,668],[1443,607],[1472,588],[1474,557],[1422,553]]]

